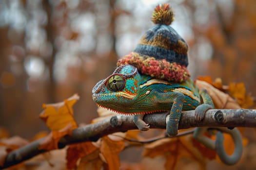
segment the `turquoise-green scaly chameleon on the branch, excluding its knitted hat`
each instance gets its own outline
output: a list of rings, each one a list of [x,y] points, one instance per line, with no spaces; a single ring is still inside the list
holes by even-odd
[[[190,79],[183,83],[167,82],[141,75],[137,68],[131,65],[118,67],[112,75],[98,82],[92,92],[97,105],[120,114],[134,115],[134,122],[142,131],[149,129],[149,125],[143,121],[145,114],[170,111],[166,118],[166,131],[169,136],[177,135],[181,111],[196,110],[195,117],[199,121],[208,109],[214,108],[207,91],[198,90]],[[200,104],[200,97],[203,104]],[[220,157],[223,157],[223,162],[232,164],[239,160],[240,152],[234,153],[235,156],[230,158],[220,151],[223,150],[223,147],[219,147],[220,142],[217,142],[218,147],[212,145],[212,141],[201,137],[201,131],[196,130],[194,136],[204,145],[217,149],[217,153],[222,154]],[[218,136],[217,141],[222,140],[223,136]],[[239,140],[239,137],[236,137],[236,140]],[[241,142],[238,142],[236,148],[242,148]]]

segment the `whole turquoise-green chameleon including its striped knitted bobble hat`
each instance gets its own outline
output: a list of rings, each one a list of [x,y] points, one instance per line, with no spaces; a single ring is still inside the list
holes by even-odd
[[[200,121],[208,109],[214,108],[207,91],[198,90],[189,78],[188,45],[169,26],[173,20],[169,4],[159,4],[152,15],[156,25],[142,36],[134,52],[118,60],[119,67],[114,73],[98,82],[92,91],[93,100],[99,106],[134,115],[133,121],[142,131],[149,129],[149,124],[143,121],[145,114],[168,111],[166,132],[169,136],[177,135],[181,111],[195,110],[195,118]],[[228,131],[235,141],[232,156],[224,151],[222,134],[218,133],[213,141],[203,136],[206,129],[197,128],[194,137],[215,149],[224,163],[236,163],[242,149],[237,129]]]

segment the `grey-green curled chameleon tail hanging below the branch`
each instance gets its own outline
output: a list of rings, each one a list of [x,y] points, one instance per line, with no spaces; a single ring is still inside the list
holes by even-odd
[[[216,141],[208,138],[207,136],[203,136],[204,132],[207,129],[217,129]],[[232,136],[234,143],[235,143],[235,150],[232,155],[228,155],[225,152],[225,148],[223,145],[224,136],[222,132],[228,133]],[[225,127],[203,127],[197,128],[194,133],[194,138],[197,139],[200,143],[202,143],[207,148],[212,150],[216,150],[220,160],[227,164],[227,165],[234,165],[236,164],[242,155],[243,145],[242,145],[242,136],[238,129],[234,128],[232,130],[225,128]]]

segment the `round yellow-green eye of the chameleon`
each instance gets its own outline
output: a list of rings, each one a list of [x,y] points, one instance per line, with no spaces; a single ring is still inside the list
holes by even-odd
[[[120,91],[124,88],[125,80],[120,75],[113,75],[108,79],[108,88],[111,91]]]

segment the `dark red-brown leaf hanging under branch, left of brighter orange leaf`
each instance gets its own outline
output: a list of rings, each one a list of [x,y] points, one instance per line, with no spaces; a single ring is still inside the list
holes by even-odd
[[[98,148],[95,147],[92,142],[82,142],[69,145],[66,155],[67,168],[74,169],[80,158],[87,156],[96,150],[98,150]]]

